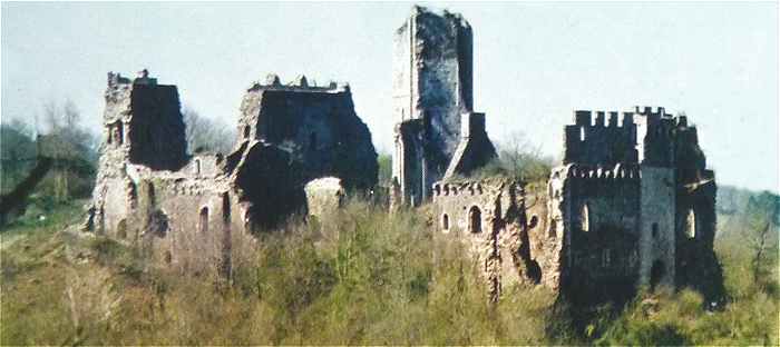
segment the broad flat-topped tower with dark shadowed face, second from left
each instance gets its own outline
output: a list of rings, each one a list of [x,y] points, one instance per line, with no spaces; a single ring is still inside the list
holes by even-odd
[[[290,151],[301,162],[305,181],[334,176],[349,188],[376,186],[377,152],[371,132],[354,112],[349,87],[309,87],[305,79],[299,83],[250,88],[241,106],[240,133]]]

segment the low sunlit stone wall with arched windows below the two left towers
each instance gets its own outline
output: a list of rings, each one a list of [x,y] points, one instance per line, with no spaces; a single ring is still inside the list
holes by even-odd
[[[96,232],[138,247],[163,267],[230,270],[231,230],[247,234],[246,207],[218,172],[195,176],[136,165],[121,172],[96,188]]]

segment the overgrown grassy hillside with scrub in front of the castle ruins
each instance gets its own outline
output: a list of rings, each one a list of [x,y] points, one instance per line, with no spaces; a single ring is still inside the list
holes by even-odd
[[[236,259],[230,286],[155,270],[108,239],[60,232],[78,215],[65,206],[2,231],[0,344],[779,343],[777,244],[755,282],[751,248],[719,238],[729,294],[720,309],[704,309],[690,290],[645,294],[575,328],[545,288],[505,288],[489,305],[465,250],[433,239],[422,214],[351,201],[316,225],[291,221]]]

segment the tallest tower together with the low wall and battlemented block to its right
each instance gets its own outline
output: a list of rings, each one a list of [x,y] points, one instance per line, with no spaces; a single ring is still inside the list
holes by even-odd
[[[426,31],[440,22],[460,30]],[[428,191],[416,187],[437,180],[430,192],[440,235],[469,245],[494,296],[513,282],[542,284],[574,301],[589,303],[620,300],[657,285],[718,293],[714,172],[706,169],[696,128],[685,116],[650,107],[623,113],[575,111],[574,125],[564,127],[563,162],[546,182],[470,180],[468,174],[495,156],[484,116],[469,108],[471,29],[460,16],[416,8],[398,32],[419,39],[413,50],[397,46],[397,61],[406,61],[399,57],[408,54],[413,66],[425,67],[422,72],[412,69],[418,75],[412,73],[408,92],[397,92],[413,96],[411,110],[417,110],[409,113],[397,107],[402,117],[412,115],[397,127],[393,165],[399,200],[406,205],[423,200]],[[449,59],[426,53],[442,47],[468,49],[452,50]],[[460,71],[454,67],[466,73],[458,78],[450,73],[450,88],[420,82]],[[397,73],[406,79],[406,72]],[[429,107],[430,96],[468,101]],[[446,113],[441,110],[455,106],[462,107],[462,130],[435,126],[443,123],[437,119]],[[479,145],[460,151],[469,148],[475,133]],[[448,147],[431,146],[458,136],[461,145],[451,157],[438,151]],[[431,158],[451,160],[443,175],[431,167],[437,162]]]

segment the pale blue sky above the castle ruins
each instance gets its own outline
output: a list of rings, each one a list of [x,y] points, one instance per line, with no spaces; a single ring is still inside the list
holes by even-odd
[[[778,190],[778,4],[422,3],[474,28],[475,110],[494,140],[560,151],[574,109],[685,111],[721,184]],[[2,3],[2,117],[71,99],[91,127],[106,72],[148,68],[204,116],[237,119],[276,72],[349,81],[389,150],[392,33],[412,3]]]

